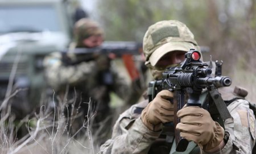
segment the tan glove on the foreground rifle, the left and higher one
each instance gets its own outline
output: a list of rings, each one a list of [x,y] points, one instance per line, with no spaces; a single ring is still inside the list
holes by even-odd
[[[174,104],[167,99],[173,98],[168,90],[160,91],[142,111],[141,119],[151,131],[160,131],[162,124],[174,121]]]

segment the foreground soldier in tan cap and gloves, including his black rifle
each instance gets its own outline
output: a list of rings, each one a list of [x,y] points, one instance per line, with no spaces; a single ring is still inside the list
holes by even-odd
[[[101,145],[100,153],[252,152],[255,116],[245,100],[247,91],[229,87],[231,80],[221,76],[219,63],[202,62],[200,47],[184,23],[152,24],[143,38],[143,53],[145,65],[158,81],[151,83],[150,98],[119,116],[112,138]],[[187,106],[183,106],[185,93]]]

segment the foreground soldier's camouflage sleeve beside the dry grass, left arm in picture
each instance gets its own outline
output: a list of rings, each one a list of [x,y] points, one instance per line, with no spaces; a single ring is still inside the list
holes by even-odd
[[[140,116],[137,119],[130,119],[125,114],[119,116],[114,125],[112,139],[107,140],[101,145],[99,153],[146,154],[152,142],[159,137],[161,132],[148,130],[142,123]]]

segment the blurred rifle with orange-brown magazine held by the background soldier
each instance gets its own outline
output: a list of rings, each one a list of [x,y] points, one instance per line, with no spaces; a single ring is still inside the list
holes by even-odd
[[[77,59],[72,61],[68,54],[75,54]],[[121,58],[126,66],[131,80],[139,78],[139,70],[136,68],[134,60],[144,63],[142,57],[142,43],[135,41],[104,41],[100,47],[96,48],[75,48],[61,51],[62,59],[65,65],[76,65],[83,61],[97,59],[100,55],[106,55],[113,58]],[[136,56],[136,57],[134,57]],[[137,58],[137,59],[135,59]]]

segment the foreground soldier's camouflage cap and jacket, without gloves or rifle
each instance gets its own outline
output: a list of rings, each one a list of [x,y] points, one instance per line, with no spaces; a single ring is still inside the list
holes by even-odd
[[[154,62],[154,59],[152,59],[152,55],[154,54],[154,52],[151,52],[152,48],[156,50],[160,47],[171,50],[172,47],[176,47],[180,51],[188,51],[190,48],[195,48],[200,51],[199,46],[197,46],[196,41],[193,39],[193,34],[187,27],[180,22],[173,21],[175,24],[170,24],[170,22],[156,23],[156,26],[163,27],[162,31],[158,31],[159,28],[151,26],[144,36],[143,49],[144,55],[146,56],[146,65],[150,68],[151,74],[155,79],[158,79],[163,71],[156,70],[150,64],[152,61]],[[179,28],[177,28],[177,25]],[[151,35],[148,35],[148,33]],[[152,39],[153,37],[154,39]],[[166,37],[167,39],[165,39]],[[145,46],[144,44],[147,45]],[[160,59],[164,54],[155,54],[154,56]],[[216,153],[251,153],[255,144],[256,132],[255,116],[253,110],[249,108],[249,102],[244,99],[245,95],[234,93],[233,88],[219,88],[219,91],[226,105],[228,105],[228,110],[232,118],[224,121],[225,147]],[[147,104],[148,100],[137,103],[119,115],[113,128],[112,138],[101,145],[99,153],[172,153],[172,151],[170,152],[170,144],[164,145],[166,143],[165,140],[162,143],[159,142],[163,138],[162,134],[165,133],[165,128],[162,131],[154,132],[143,124],[141,112]],[[205,152],[199,149],[195,153]]]

